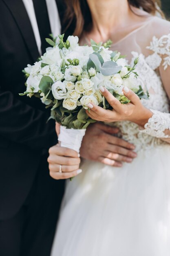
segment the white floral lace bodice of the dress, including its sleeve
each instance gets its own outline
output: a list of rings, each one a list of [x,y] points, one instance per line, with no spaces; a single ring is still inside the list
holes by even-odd
[[[170,33],[160,38],[153,36],[146,50],[150,50],[148,56],[132,51],[131,62],[133,63],[135,57],[140,57],[136,68],[139,74],[137,82],[144,90],[147,88],[150,94],[150,98],[142,99],[142,103],[146,108],[150,108],[153,116],[144,129],[128,121],[114,124],[120,128],[124,139],[136,145],[137,151],[170,143],[170,113],[167,96],[170,91]]]

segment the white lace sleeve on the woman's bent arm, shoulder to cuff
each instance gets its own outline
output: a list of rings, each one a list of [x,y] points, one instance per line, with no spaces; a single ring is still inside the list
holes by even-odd
[[[157,62],[157,68],[159,68],[163,87],[170,98],[170,34],[161,36],[159,39],[154,36],[147,49],[154,52],[154,54],[152,54],[154,58],[155,55],[157,55],[157,60],[160,58],[160,61]],[[152,61],[154,62],[154,59],[152,59]],[[153,65],[155,64],[153,63]],[[159,92],[155,91],[155,94],[157,93]],[[160,105],[161,104],[163,103],[160,103]],[[145,124],[144,130],[141,130],[141,132],[170,143],[170,113],[164,113],[153,109],[151,109],[151,111],[153,115]]]

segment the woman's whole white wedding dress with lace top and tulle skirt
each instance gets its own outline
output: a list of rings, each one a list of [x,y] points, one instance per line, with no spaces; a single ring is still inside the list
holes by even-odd
[[[51,256],[170,256],[170,22],[150,17],[112,45],[137,65],[153,112],[145,128],[114,123],[137,158],[117,168],[82,159],[66,184]]]

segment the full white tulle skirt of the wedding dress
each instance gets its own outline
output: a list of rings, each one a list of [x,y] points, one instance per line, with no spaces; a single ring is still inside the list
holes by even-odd
[[[66,184],[51,256],[170,256],[170,145],[122,168],[81,168]]]

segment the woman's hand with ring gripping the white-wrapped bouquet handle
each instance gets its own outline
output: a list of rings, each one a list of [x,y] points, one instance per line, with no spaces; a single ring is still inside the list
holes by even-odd
[[[79,169],[79,154],[70,148],[60,147],[58,144],[49,149],[50,176],[55,180],[69,179],[82,172]],[[62,166],[62,173],[60,173]]]

